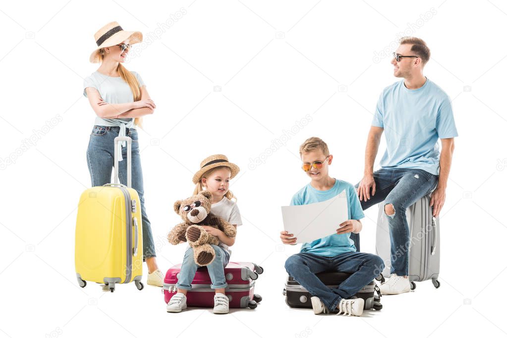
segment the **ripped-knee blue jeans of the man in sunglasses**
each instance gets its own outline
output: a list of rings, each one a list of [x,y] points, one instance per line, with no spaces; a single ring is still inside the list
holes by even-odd
[[[361,201],[361,207],[366,210],[382,201],[392,204],[394,214],[387,216],[391,239],[391,273],[408,276],[410,229],[405,212],[437,187],[439,177],[421,169],[381,168],[373,173],[373,178],[375,196],[370,194],[370,200]],[[355,187],[358,186],[359,183]]]

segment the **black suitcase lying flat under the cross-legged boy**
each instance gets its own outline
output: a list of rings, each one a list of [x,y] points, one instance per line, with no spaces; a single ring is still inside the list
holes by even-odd
[[[321,272],[317,273],[316,276],[329,288],[336,288],[340,283],[345,281],[351,274],[345,272]],[[285,296],[285,303],[291,308],[307,308],[311,309],[312,302],[310,298],[312,295],[303,286],[291,276],[288,276],[285,282],[285,288],[283,289],[283,295]],[[379,287],[374,281],[366,285],[354,295],[355,298],[362,298],[365,300],[365,310],[381,310],[382,304],[380,303]],[[352,297],[352,298],[354,298]]]

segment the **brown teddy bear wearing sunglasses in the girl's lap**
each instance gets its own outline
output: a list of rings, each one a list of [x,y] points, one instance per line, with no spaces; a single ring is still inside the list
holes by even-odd
[[[215,259],[215,250],[210,244],[218,245],[219,240],[204,230],[202,225],[222,230],[228,237],[236,237],[236,228],[221,217],[211,214],[212,195],[209,191],[174,203],[174,212],[182,217],[183,223],[176,225],[167,235],[169,243],[189,242],[194,249],[194,261],[206,266]]]

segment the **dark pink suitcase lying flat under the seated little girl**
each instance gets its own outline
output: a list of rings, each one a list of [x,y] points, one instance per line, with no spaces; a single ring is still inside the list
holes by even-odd
[[[164,300],[169,303],[171,297],[176,294],[176,283],[179,277],[181,264],[177,264],[167,270],[164,278]],[[229,298],[230,308],[255,309],[262,297],[253,293],[255,280],[263,273],[263,268],[245,262],[229,262],[224,268],[227,288],[225,293]],[[208,269],[199,268],[192,281],[192,289],[187,292],[187,305],[193,307],[212,308],[214,305],[215,291],[210,287]]]

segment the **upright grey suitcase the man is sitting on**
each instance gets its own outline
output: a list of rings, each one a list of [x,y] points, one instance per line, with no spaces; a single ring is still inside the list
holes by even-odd
[[[409,251],[409,279],[411,289],[415,289],[414,282],[431,279],[433,286],[440,287],[438,281],[440,272],[440,222],[434,218],[429,206],[430,197],[424,196],[407,209],[407,222],[410,229]],[[376,254],[385,263],[383,277],[390,276],[391,269],[391,241],[389,224],[384,213],[384,202],[379,203],[379,214],[376,235]],[[383,277],[380,276],[382,279]]]

